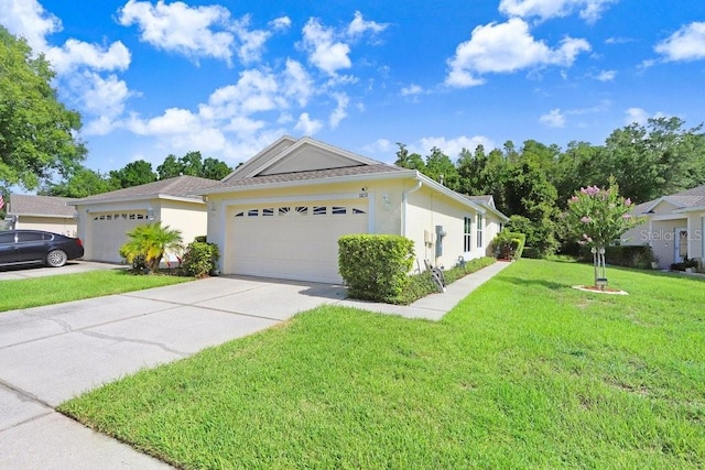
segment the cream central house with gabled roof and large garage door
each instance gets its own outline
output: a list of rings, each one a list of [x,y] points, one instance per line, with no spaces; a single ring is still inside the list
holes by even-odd
[[[349,233],[404,236],[414,267],[452,267],[488,254],[508,220],[491,198],[311,138],[279,139],[203,194],[224,274],[340,282],[337,240]]]

